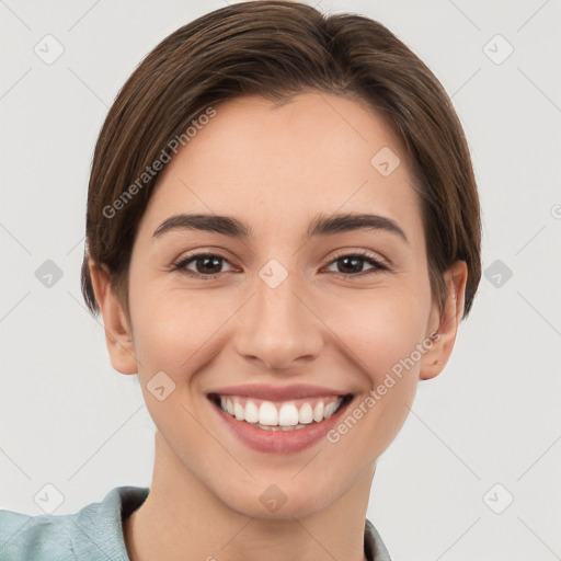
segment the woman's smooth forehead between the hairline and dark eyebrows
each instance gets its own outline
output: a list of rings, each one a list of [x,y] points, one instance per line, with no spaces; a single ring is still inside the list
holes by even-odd
[[[215,111],[161,172],[145,215],[152,231],[181,211],[237,216],[261,233],[296,231],[320,213],[373,211],[419,237],[408,154],[374,111],[324,93]]]

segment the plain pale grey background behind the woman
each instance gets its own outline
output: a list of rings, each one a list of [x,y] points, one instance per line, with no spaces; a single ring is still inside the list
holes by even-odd
[[[140,59],[222,5],[0,1],[0,507],[54,508],[51,484],[65,514],[113,486],[150,484],[153,424],[140,388],[112,369],[80,295],[88,174],[107,108]],[[368,517],[394,560],[561,559],[561,2],[319,8],[378,19],[427,62],[465,126],[483,206],[486,274],[472,314],[380,459]],[[64,47],[50,65],[34,51],[50,41],[55,53],[47,34]],[[50,286],[47,260],[62,273]]]

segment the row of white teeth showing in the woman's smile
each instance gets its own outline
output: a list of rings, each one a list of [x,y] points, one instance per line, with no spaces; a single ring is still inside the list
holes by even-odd
[[[337,398],[336,401],[330,401],[328,404],[325,400],[320,400],[313,408],[305,401],[299,410],[294,402],[283,403],[277,410],[271,401],[262,401],[257,404],[251,399],[240,401],[240,398],[234,396],[231,398],[220,396],[219,401],[222,411],[238,421],[245,421],[264,430],[295,431],[329,419],[341,407],[343,398]]]

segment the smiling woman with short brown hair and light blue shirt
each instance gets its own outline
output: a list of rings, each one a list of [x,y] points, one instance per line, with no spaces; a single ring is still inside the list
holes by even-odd
[[[451,104],[379,23],[257,1],[178,30],[101,130],[82,267],[152,483],[2,512],[2,559],[389,559],[376,461],[450,356],[480,229]]]

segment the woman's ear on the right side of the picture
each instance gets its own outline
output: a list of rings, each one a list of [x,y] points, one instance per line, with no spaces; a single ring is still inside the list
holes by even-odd
[[[446,301],[442,311],[438,311],[435,305],[434,316],[436,321],[432,321],[433,329],[430,330],[430,335],[434,334],[431,337],[433,344],[432,346],[424,345],[428,351],[421,358],[419,374],[421,380],[428,380],[438,376],[444,370],[451,355],[458,328],[463,316],[466,282],[468,279],[466,262],[456,261],[444,273],[444,279],[446,283]]]

